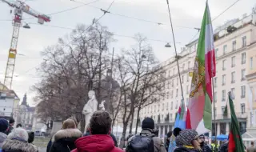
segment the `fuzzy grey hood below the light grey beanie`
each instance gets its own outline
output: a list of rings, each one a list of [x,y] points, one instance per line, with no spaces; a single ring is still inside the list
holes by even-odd
[[[6,139],[2,145],[2,150],[21,150],[23,152],[37,152],[36,146],[28,142],[20,142],[18,140]]]

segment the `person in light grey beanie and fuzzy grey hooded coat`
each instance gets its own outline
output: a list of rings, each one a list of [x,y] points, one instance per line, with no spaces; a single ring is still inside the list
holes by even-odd
[[[8,134],[2,145],[3,152],[38,152],[38,148],[28,143],[29,135],[22,128],[15,128]]]

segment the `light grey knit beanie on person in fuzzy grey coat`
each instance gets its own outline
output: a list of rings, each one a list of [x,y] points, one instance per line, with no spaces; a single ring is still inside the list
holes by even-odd
[[[11,131],[11,133],[7,136],[10,140],[18,140],[21,142],[27,142],[29,135],[26,130],[22,128],[15,128]]]

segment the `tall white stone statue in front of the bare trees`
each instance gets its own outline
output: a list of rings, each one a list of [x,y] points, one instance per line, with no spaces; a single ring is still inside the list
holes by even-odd
[[[90,123],[90,118],[94,114],[95,111],[98,110],[98,101],[95,98],[94,90],[90,90],[88,93],[89,101],[83,107],[82,114],[86,116],[86,126]],[[86,132],[85,126],[85,132]]]

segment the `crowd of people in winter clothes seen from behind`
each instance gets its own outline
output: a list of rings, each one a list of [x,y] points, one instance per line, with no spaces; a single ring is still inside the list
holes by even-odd
[[[96,111],[86,126],[86,133],[78,130],[78,122],[68,118],[62,123],[62,129],[50,139],[46,152],[227,152],[228,142],[217,150],[217,146],[206,144],[205,136],[195,130],[175,128],[166,134],[166,140],[158,137],[154,120],[145,118],[139,134],[125,135],[118,142],[111,134],[112,119],[106,111]],[[14,120],[9,122],[0,118],[0,152],[38,152],[32,143],[34,133],[22,129],[21,125],[14,128]],[[246,150],[246,149],[245,149]],[[254,142],[247,152],[256,152]]]

